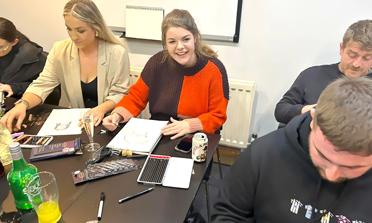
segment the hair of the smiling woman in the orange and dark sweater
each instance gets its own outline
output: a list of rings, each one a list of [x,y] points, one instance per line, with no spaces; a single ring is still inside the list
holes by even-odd
[[[180,9],[173,9],[170,13],[168,13],[162,22],[162,43],[164,48],[164,57],[162,61],[166,59],[170,59],[171,56],[167,51],[167,42],[166,42],[166,33],[169,28],[171,27],[182,27],[192,33],[194,37],[196,37],[195,42],[195,53],[196,56],[206,56],[206,57],[217,57],[216,52],[212,50],[206,44],[202,43],[201,35],[197,26],[195,24],[194,18],[192,18],[191,14],[186,10]]]

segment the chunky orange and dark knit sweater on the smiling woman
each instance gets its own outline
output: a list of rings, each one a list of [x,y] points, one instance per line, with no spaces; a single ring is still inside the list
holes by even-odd
[[[198,57],[195,65],[184,67],[163,59],[163,51],[146,63],[141,77],[112,113],[124,122],[137,116],[147,102],[151,119],[185,119],[190,132],[213,133],[226,121],[229,84],[226,69],[217,58]]]

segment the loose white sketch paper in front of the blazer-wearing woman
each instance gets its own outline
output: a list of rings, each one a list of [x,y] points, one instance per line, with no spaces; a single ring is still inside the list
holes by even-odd
[[[80,113],[89,109],[54,109],[41,127],[38,135],[79,135]]]

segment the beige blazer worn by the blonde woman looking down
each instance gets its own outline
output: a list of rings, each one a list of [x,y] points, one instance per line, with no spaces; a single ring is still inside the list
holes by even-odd
[[[118,103],[128,93],[129,58],[122,46],[99,40],[97,73],[98,105],[107,100]],[[78,49],[71,39],[54,44],[43,71],[25,93],[39,96],[44,103],[60,83],[71,108],[84,108]]]

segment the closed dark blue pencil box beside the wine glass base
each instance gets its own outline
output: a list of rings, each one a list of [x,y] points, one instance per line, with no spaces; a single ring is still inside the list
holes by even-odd
[[[30,162],[47,160],[50,158],[68,156],[73,154],[83,154],[81,150],[80,138],[76,138],[75,140],[67,142],[32,148]]]

